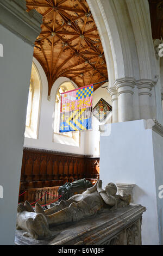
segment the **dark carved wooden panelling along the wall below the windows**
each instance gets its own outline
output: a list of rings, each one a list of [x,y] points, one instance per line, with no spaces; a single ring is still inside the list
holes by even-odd
[[[24,148],[20,194],[29,188],[55,187],[77,179],[96,180],[99,157]]]

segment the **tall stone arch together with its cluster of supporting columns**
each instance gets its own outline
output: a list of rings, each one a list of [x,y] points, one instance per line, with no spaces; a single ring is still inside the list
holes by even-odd
[[[148,1],[87,3],[104,49],[113,123],[155,117],[156,62]]]

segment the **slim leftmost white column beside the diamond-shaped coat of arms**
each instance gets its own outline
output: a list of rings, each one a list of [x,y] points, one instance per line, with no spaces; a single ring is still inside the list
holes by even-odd
[[[112,102],[112,123],[118,122],[118,96],[117,89],[112,87],[108,89],[108,93],[111,95]]]

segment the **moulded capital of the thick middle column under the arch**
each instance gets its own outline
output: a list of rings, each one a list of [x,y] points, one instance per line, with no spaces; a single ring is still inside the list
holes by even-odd
[[[117,89],[118,96],[122,93],[134,94],[133,88],[135,87],[135,79],[133,77],[124,77],[117,79],[114,83]]]

